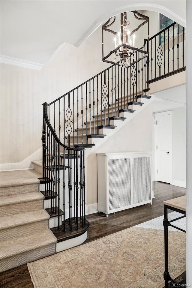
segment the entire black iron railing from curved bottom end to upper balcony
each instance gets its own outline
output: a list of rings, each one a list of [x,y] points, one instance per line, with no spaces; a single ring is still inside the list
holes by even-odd
[[[131,105],[139,95],[146,95],[151,82],[185,70],[184,42],[184,28],[174,22],[149,38],[149,56],[137,61],[137,51],[131,55],[130,67],[112,65],[43,104],[43,177],[51,209],[58,214],[58,229],[60,213],[64,231],[66,219],[71,231],[85,225],[84,149],[93,146],[90,139],[104,137],[100,129],[110,128],[110,121],[122,112],[133,112]],[[146,45],[147,40],[141,49]]]

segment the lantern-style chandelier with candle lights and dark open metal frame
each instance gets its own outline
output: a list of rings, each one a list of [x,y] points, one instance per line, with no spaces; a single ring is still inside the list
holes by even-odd
[[[142,23],[133,31],[129,30],[130,22],[127,20],[127,12],[121,13],[120,29],[118,32],[115,32],[109,29],[109,27],[115,23],[116,16],[111,17],[102,26],[102,46],[103,46],[102,53],[103,53],[104,62],[112,63],[112,64],[119,65],[121,67],[126,68],[140,61],[142,58],[149,56],[149,17],[137,11],[131,11],[131,13],[134,13],[134,17],[137,20],[142,21]],[[135,32],[137,32],[145,24],[148,25],[147,39],[143,39],[143,46],[141,48],[138,48],[136,44]],[[106,56],[104,56],[104,31],[114,34],[113,47],[115,46],[115,48],[112,51],[110,51]],[[139,53],[136,59],[137,51]],[[111,59],[111,55],[113,54],[114,54],[114,60]],[[132,61],[131,61],[131,56],[132,56]],[[110,58],[110,59],[107,59],[107,58]]]

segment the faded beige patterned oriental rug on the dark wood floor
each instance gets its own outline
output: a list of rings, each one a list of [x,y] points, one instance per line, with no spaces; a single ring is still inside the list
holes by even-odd
[[[174,216],[174,213],[176,212],[169,215]],[[162,219],[163,217],[158,217],[29,263],[28,269],[34,287],[164,287]],[[169,272],[175,279],[185,271],[185,233],[173,229],[169,231],[168,237]]]

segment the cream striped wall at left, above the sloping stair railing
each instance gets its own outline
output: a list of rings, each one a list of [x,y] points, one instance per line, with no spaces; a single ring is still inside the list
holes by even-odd
[[[41,71],[1,64],[1,163],[21,162],[41,148],[41,104],[109,66],[101,43],[99,28],[79,48],[67,44]]]

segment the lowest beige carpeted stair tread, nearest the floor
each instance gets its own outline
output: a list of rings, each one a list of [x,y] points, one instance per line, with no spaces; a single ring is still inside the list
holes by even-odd
[[[50,229],[1,241],[0,259],[18,255],[30,250],[35,250],[57,242]]]

